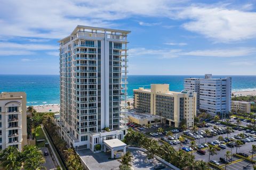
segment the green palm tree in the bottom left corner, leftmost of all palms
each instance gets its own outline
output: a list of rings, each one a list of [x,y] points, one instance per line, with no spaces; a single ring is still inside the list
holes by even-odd
[[[20,152],[15,147],[8,147],[0,155],[1,166],[7,170],[20,169]]]

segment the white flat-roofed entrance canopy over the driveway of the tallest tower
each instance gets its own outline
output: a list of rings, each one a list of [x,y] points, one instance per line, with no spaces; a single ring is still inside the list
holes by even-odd
[[[110,139],[103,141],[104,152],[111,150],[111,158],[114,158],[114,155],[119,156],[121,152],[125,154],[126,152],[126,144],[119,139]]]

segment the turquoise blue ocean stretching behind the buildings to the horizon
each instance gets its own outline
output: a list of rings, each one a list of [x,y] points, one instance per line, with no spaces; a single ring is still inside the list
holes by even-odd
[[[225,78],[228,75],[213,76]],[[204,75],[128,75],[128,98],[133,97],[133,89],[150,88],[150,84],[167,83],[170,90],[183,90],[184,78],[203,78]],[[232,91],[256,90],[256,75],[232,75]],[[0,92],[25,91],[27,105],[60,103],[59,75],[0,75]]]

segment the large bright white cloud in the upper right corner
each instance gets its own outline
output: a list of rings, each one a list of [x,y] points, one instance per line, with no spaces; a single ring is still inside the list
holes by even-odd
[[[177,13],[189,19],[183,28],[217,42],[229,43],[256,37],[256,12],[229,10],[224,7],[190,6]]]

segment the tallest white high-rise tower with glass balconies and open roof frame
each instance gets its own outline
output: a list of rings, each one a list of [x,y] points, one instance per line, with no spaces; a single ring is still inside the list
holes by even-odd
[[[60,43],[60,134],[68,146],[90,148],[124,138],[121,100],[126,103],[127,34],[77,25]],[[110,132],[103,129],[109,128]]]

